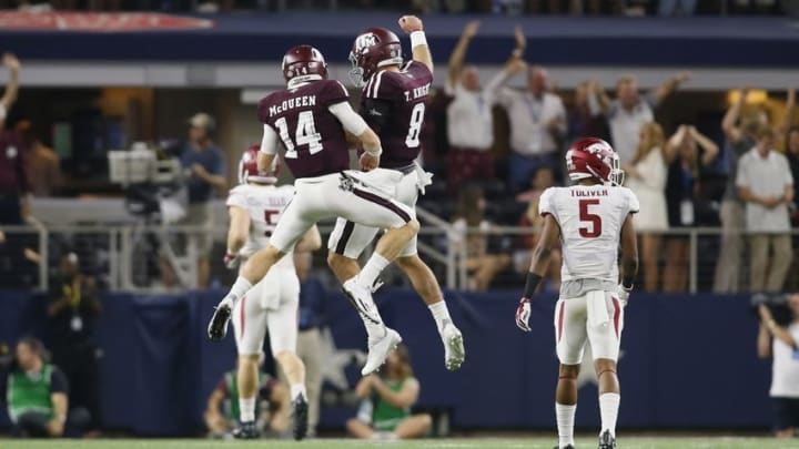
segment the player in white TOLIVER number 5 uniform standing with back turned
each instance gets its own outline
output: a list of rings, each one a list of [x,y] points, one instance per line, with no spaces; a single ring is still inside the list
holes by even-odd
[[[552,248],[560,242],[563,267],[560,298],[555,305],[555,340],[560,361],[555,415],[556,449],[574,449],[577,375],[586,340],[590,341],[599,379],[601,429],[599,449],[616,448],[619,382],[616,376],[624,306],[638,272],[638,248],[633,214],[639,205],[621,187],[624,172],[618,155],[600,139],[584,139],[566,153],[569,187],[550,187],[540,197],[542,238],[533,253],[516,325],[525,331],[530,300],[549,264]],[[618,248],[621,245],[619,283]]]

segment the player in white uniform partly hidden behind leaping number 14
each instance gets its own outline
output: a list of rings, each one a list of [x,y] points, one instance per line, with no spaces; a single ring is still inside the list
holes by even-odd
[[[270,172],[257,169],[260,145],[244,152],[239,165],[240,185],[227,196],[230,229],[225,266],[234,268],[242,259],[266,247],[269,237],[286,204],[294,196],[293,185],[275,186],[279,160]],[[322,246],[316,226],[312,226],[297,243],[295,251],[313,251]],[[233,309],[239,353],[239,409],[240,427],[235,438],[259,438],[255,425],[257,400],[259,358],[262,355],[266,330],[270,333],[272,354],[289,379],[294,407],[294,438],[300,440],[307,431],[307,399],[305,392],[305,366],[297,357],[297,307],[300,280],[294,269],[294,258],[283,257],[266,276],[236,303]]]

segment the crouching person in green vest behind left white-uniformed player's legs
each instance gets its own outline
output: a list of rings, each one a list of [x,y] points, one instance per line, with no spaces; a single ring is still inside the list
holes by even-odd
[[[237,371],[233,369],[225,373],[209,397],[203,418],[212,438],[224,438],[241,424]],[[285,433],[291,422],[289,389],[277,379],[262,371],[259,373],[257,385],[260,388],[255,419],[259,430]]]

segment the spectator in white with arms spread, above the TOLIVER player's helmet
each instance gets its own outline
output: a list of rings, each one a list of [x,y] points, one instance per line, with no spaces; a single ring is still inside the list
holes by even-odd
[[[635,76],[621,76],[616,82],[615,100],[610,100],[598,83],[593,84],[591,101],[599,105],[607,118],[613,146],[621,164],[629,163],[635,156],[640,127],[655,120],[654,109],[689,79],[690,73],[680,72],[641,96]]]

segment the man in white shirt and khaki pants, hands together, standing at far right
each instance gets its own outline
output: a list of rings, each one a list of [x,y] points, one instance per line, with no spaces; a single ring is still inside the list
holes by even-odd
[[[758,131],[757,143],[741,156],[736,177],[746,203],[751,292],[779,292],[792,257],[788,205],[793,202],[793,177],[786,156],[773,150],[776,136],[769,126]]]

